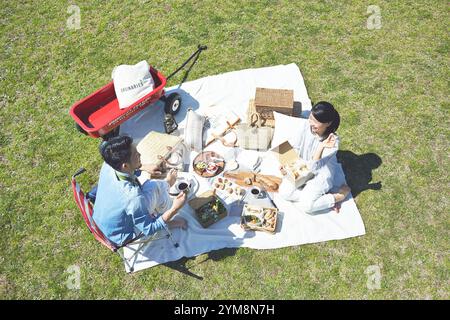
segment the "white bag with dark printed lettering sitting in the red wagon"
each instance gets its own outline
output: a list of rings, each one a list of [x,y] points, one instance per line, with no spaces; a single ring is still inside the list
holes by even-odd
[[[123,64],[112,71],[114,90],[119,108],[131,106],[140,98],[153,91],[155,82],[150,74],[150,66],[143,60],[135,65]]]

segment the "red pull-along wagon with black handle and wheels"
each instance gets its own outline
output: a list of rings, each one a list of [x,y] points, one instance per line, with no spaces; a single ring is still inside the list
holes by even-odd
[[[86,98],[77,101],[70,108],[69,113],[75,120],[78,130],[94,138],[103,137],[104,139],[107,139],[119,133],[119,126],[123,122],[158,100],[164,101],[164,110],[166,113],[171,113],[173,115],[178,113],[181,107],[181,97],[178,93],[172,93],[166,96],[164,91],[166,82],[195,57],[184,76],[184,81],[187,78],[190,69],[197,61],[199,54],[206,49],[206,46],[199,45],[197,51],[195,51],[181,67],[167,78],[155,68],[150,67],[150,74],[155,82],[154,90],[128,108],[119,108],[113,81]]]

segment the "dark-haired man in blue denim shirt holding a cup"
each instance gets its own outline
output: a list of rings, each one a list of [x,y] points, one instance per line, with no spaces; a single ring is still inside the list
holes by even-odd
[[[186,201],[183,192],[174,200],[169,197],[176,170],[171,170],[166,180],[148,180],[141,185],[137,179],[139,169],[155,174],[159,168],[142,165],[141,155],[128,136],[104,141],[100,153],[105,162],[100,171],[93,219],[106,238],[121,246],[139,233],[149,236],[165,228],[186,228],[183,218],[172,219]]]

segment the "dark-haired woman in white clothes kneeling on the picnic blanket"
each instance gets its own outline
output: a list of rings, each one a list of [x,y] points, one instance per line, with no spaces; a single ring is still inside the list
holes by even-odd
[[[339,212],[339,202],[350,193],[345,182],[337,181],[334,174],[339,166],[336,158],[339,137],[335,134],[339,123],[339,113],[331,103],[325,101],[315,104],[309,119],[302,121],[302,134],[294,148],[314,173],[314,178],[306,185],[297,189],[287,179],[285,168],[280,167],[284,176],[279,190],[281,197],[298,203],[306,213],[312,214],[330,208]],[[335,185],[340,185],[339,191],[331,193],[330,190]]]

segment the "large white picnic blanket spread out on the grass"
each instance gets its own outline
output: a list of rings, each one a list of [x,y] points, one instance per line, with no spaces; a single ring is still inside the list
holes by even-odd
[[[166,91],[167,94],[176,91],[182,96],[183,110],[176,116],[182,130],[188,107],[211,117],[223,113],[224,110],[232,110],[241,119],[246,120],[248,101],[254,98],[256,87],[293,89],[294,100],[301,102],[303,115],[307,115],[311,109],[311,101],[296,64],[228,72],[186,82],[181,86],[167,88]],[[121,126],[121,133],[129,134],[135,141],[139,141],[151,130],[163,132],[163,118],[162,104],[157,103],[125,122]],[[229,151],[227,149],[229,148],[217,142],[206,150],[214,150],[224,155]],[[251,153],[256,152],[249,152],[249,155]],[[191,153],[191,163],[195,155],[197,153]],[[261,173],[279,176],[280,173],[276,170],[278,164],[273,158],[264,153],[260,155],[263,156]],[[192,172],[192,164],[189,171]],[[342,170],[339,174],[345,179]],[[200,185],[198,193],[210,188],[210,180],[201,177],[197,177],[197,180]],[[239,216],[236,215],[228,216],[205,229],[195,219],[192,209],[185,205],[179,215],[188,220],[188,229],[172,230],[173,239],[179,243],[179,247],[176,248],[167,239],[151,242],[136,256],[134,272],[222,248],[276,249],[365,234],[363,221],[352,197],[342,203],[338,214],[334,211],[316,215],[303,213],[291,202],[279,198],[276,193],[274,202],[280,214],[276,233],[273,235],[265,232],[245,232],[239,225]],[[132,253],[132,250],[125,249],[126,257]],[[125,267],[129,272],[127,266]]]

